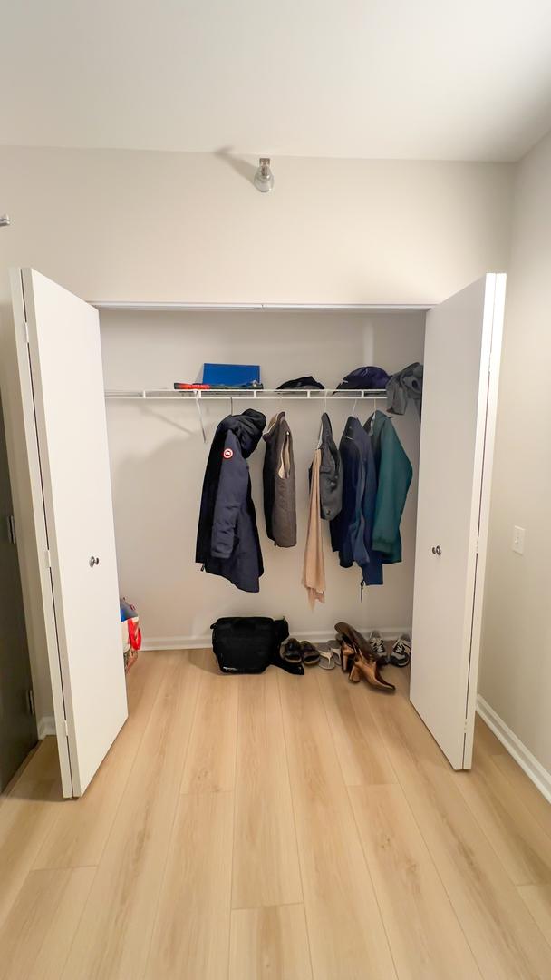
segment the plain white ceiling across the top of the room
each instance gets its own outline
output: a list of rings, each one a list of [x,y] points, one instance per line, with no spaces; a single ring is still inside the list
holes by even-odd
[[[0,142],[516,160],[551,0],[1,0]]]

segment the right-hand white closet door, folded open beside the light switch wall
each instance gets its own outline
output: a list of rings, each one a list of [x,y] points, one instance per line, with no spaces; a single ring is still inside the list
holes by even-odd
[[[470,768],[505,275],[428,314],[410,698]]]

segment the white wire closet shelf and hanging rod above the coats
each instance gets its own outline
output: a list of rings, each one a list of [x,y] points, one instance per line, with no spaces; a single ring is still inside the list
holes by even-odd
[[[385,388],[188,388],[183,391],[173,388],[152,388],[136,391],[110,389],[105,394],[109,401],[140,402],[215,402],[232,399],[258,402],[322,402],[326,398],[337,401],[379,401],[387,398]]]

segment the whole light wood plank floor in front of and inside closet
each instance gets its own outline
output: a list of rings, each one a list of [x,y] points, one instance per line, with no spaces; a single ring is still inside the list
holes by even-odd
[[[0,980],[549,980],[551,807],[478,721],[453,773],[394,697],[143,654],[81,800],[0,798]]]

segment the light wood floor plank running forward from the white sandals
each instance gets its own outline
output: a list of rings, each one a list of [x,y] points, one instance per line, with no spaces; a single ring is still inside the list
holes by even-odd
[[[363,684],[350,684],[340,668],[319,670],[318,680],[346,786],[394,783],[396,776]]]

